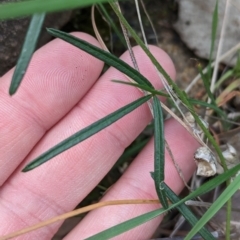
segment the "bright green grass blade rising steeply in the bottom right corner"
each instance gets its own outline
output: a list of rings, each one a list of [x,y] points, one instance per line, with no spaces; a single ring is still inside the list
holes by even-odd
[[[192,239],[192,237],[219,211],[222,206],[233,196],[233,194],[240,188],[240,175],[237,176],[234,181],[222,192],[207,212],[201,217],[201,219],[195,224],[192,230],[188,233],[186,240]]]

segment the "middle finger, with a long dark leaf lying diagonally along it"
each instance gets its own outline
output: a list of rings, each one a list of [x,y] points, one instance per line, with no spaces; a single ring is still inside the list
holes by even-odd
[[[151,50],[174,77],[175,71],[169,57],[157,47],[151,47]],[[135,54],[141,72],[160,88],[161,82],[150,60],[139,47],[135,48]],[[127,53],[122,58],[131,62]],[[109,69],[76,107],[48,131],[26,162],[90,123],[142,96],[138,89],[112,83],[112,79],[123,80],[126,77],[116,69]],[[17,171],[2,188],[0,195],[5,196],[4,205],[8,209],[21,207],[16,209],[14,215],[9,210],[3,211],[5,214],[0,216],[3,229],[13,231],[74,208],[111,169],[126,146],[138,136],[150,119],[149,109],[144,105],[39,168],[27,173]],[[12,223],[11,228],[6,226],[7,222]],[[51,238],[58,226],[56,224],[36,231],[35,239],[36,235],[41,236],[41,239]]]

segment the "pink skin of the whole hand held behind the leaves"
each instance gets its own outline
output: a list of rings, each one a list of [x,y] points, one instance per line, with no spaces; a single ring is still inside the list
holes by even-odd
[[[99,46],[97,40],[85,33],[74,35]],[[168,55],[155,46],[150,50],[174,79],[175,69]],[[135,47],[134,52],[140,72],[156,88],[162,88],[143,51]],[[128,53],[121,58],[131,65]],[[116,69],[110,68],[99,78],[102,67],[103,63],[96,58],[55,39],[34,54],[14,96],[8,95],[13,69],[0,79],[0,236],[72,210],[151,121],[148,106],[144,104],[46,164],[21,172],[28,162],[61,140],[142,96],[138,89],[110,81],[126,79]],[[188,180],[195,169],[193,154],[198,143],[173,119],[165,122],[165,138]],[[102,201],[157,199],[151,171],[153,139]],[[167,184],[179,193],[184,184],[168,153],[165,175]],[[65,239],[84,239],[159,207],[124,205],[94,210]],[[116,239],[148,239],[161,219],[156,218]],[[58,222],[17,239],[51,239],[60,225]]]

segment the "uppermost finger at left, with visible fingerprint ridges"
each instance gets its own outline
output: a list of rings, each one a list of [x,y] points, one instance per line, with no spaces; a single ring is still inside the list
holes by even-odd
[[[91,36],[76,36],[99,45]],[[84,96],[103,63],[56,39],[38,50],[17,93],[8,89],[13,69],[0,79],[0,186],[44,133]]]

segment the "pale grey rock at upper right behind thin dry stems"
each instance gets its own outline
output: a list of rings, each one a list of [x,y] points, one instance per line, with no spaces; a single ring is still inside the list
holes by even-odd
[[[198,0],[180,0],[179,18],[174,25],[186,45],[192,49],[195,54],[202,58],[209,58],[212,34],[212,17],[216,0],[198,1]],[[221,26],[225,11],[226,1],[218,1],[218,31],[215,41],[214,58],[219,42]],[[239,43],[240,40],[240,15],[239,0],[232,0],[228,9],[227,27],[224,36],[222,54],[230,50]],[[223,61],[227,65],[234,65],[235,58],[228,58]]]

